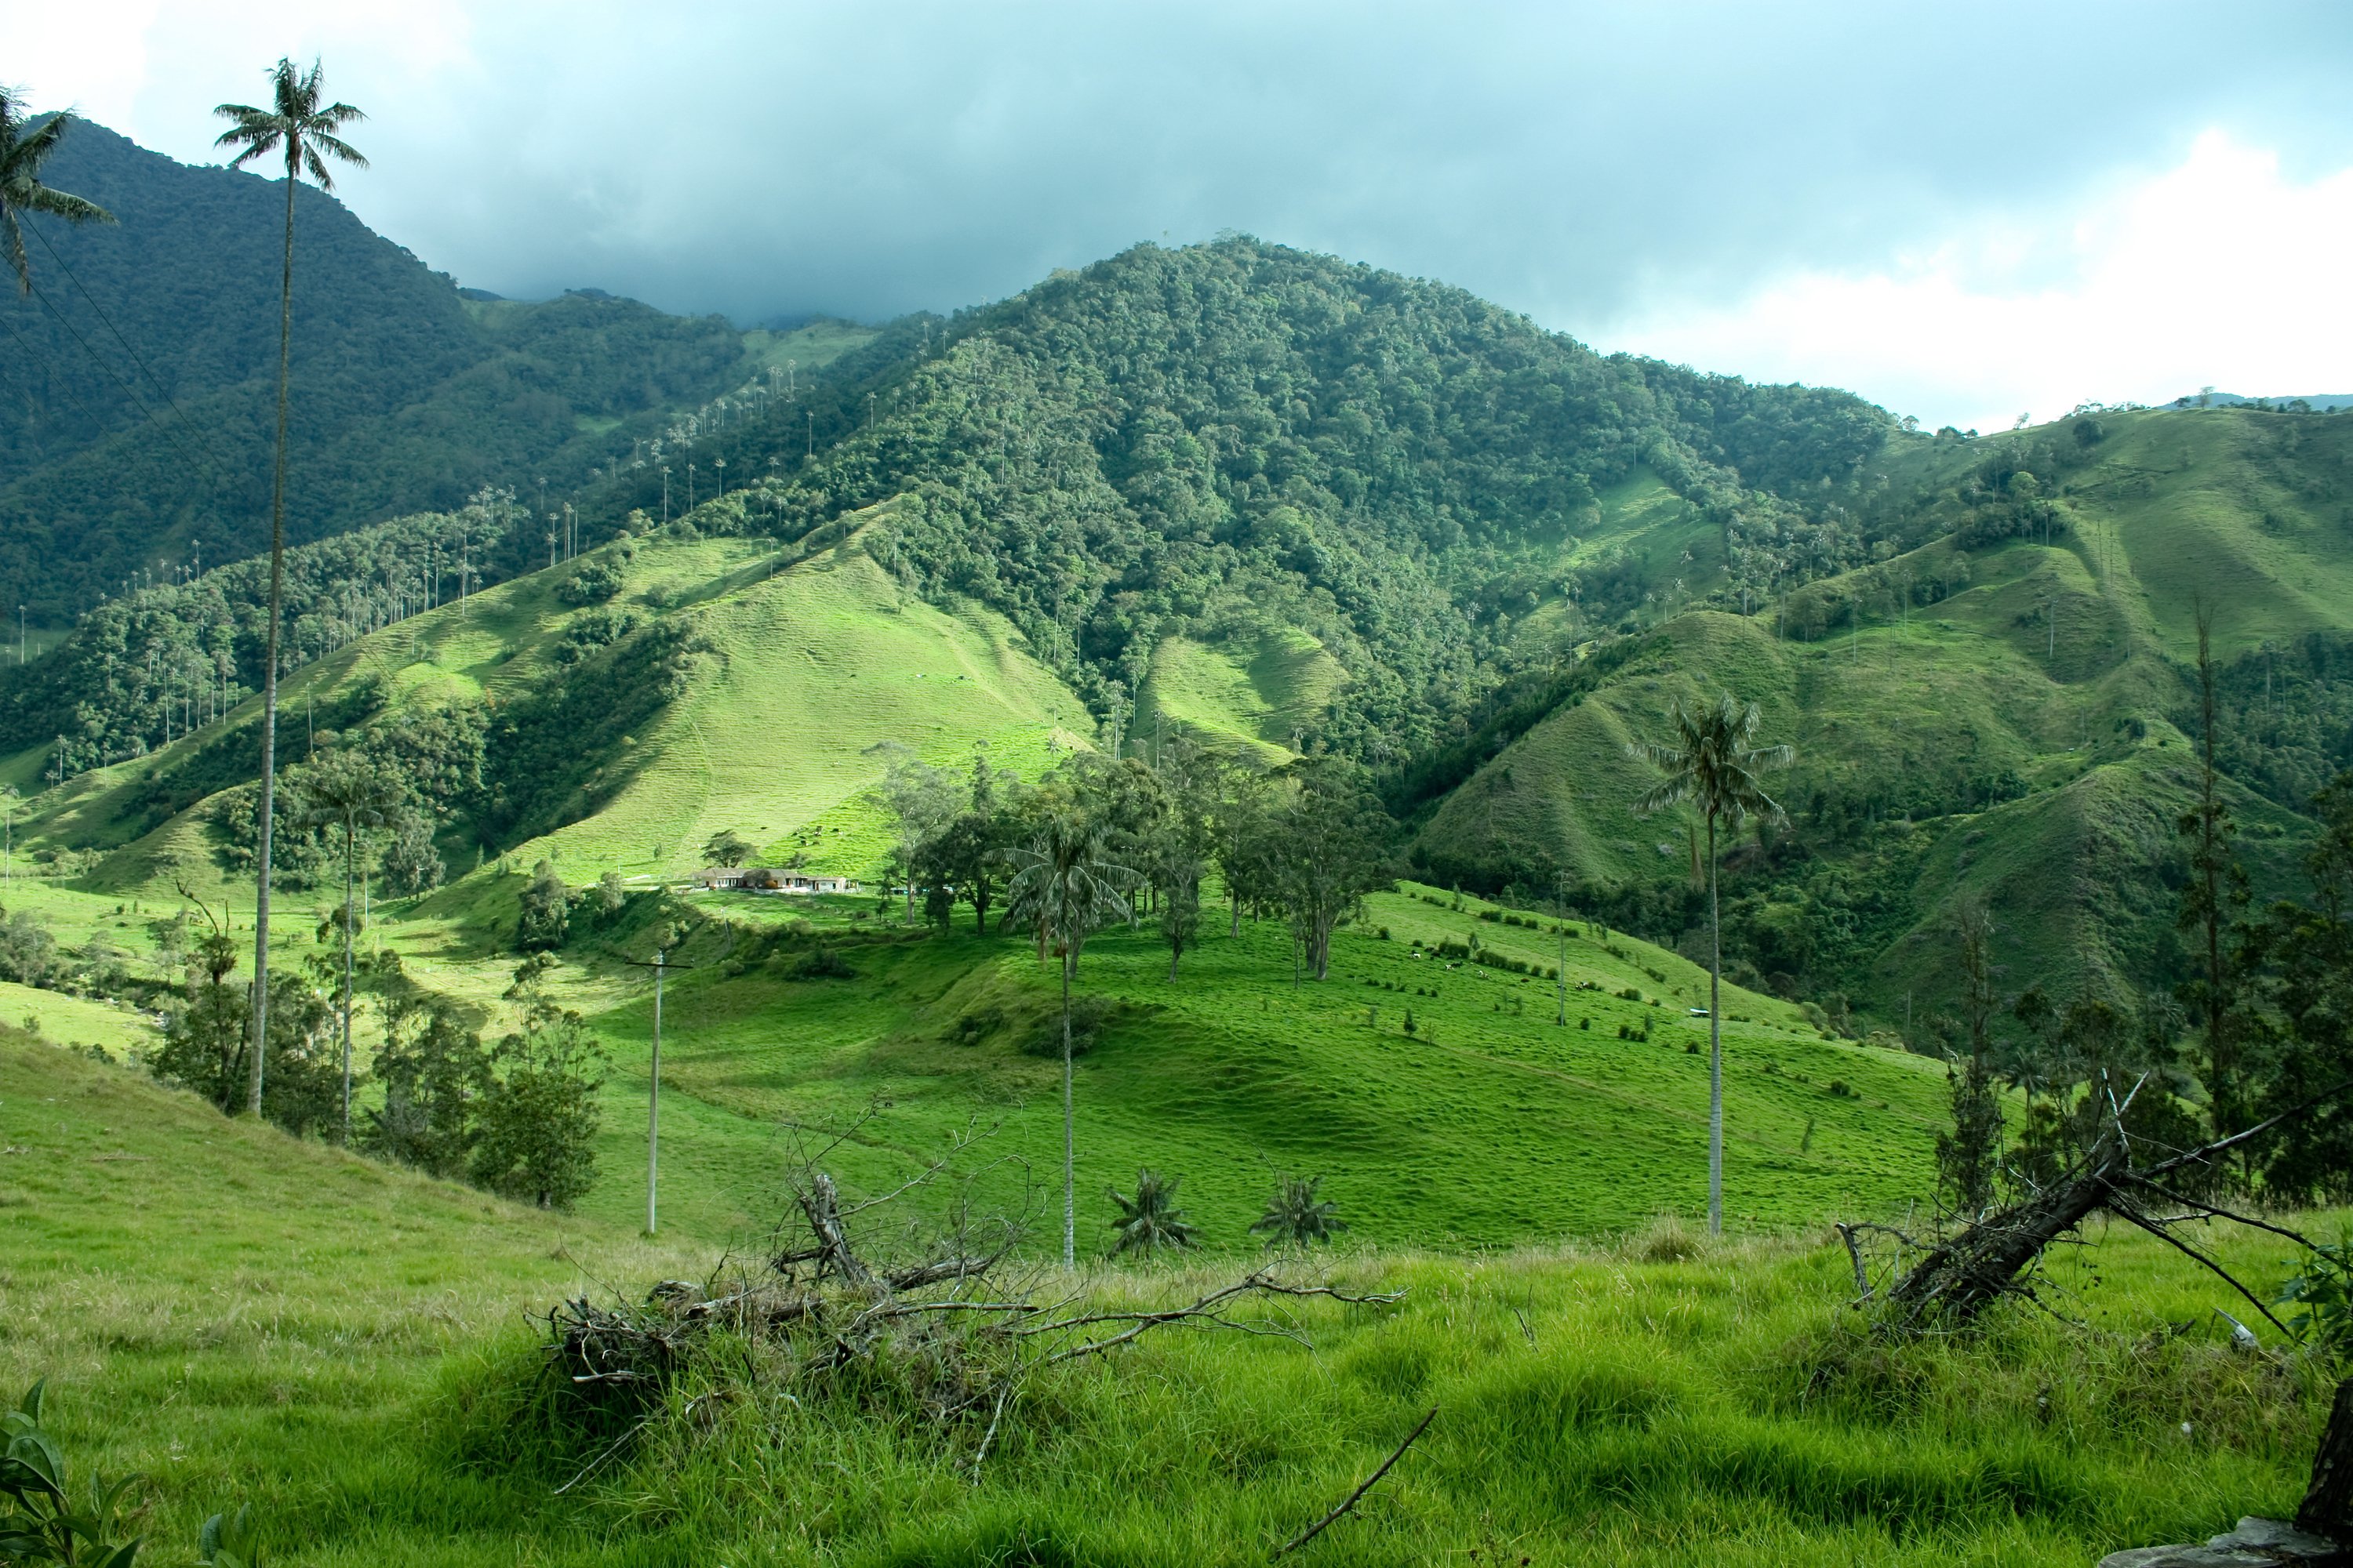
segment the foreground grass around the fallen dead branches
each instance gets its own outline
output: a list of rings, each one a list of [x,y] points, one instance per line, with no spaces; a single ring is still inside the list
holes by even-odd
[[[1814,1237],[1706,1248],[1668,1222],[1292,1265],[1407,1298],[1045,1378],[976,1483],[976,1429],[918,1418],[908,1366],[807,1406],[774,1375],[689,1406],[713,1387],[689,1375],[555,1495],[600,1443],[536,1418],[525,1314],[715,1258],[221,1121],[14,1032],[0,1147],[0,1382],[52,1378],[85,1474],[153,1476],[158,1561],[240,1500],[304,1563],[1264,1561],[1438,1408],[1308,1559],[2080,1568],[2289,1509],[2320,1413],[2315,1375],[2233,1354],[2221,1288],[2137,1237],[2054,1262],[2082,1326],[2019,1312],[1899,1347],[1842,1309]],[[2275,1239],[2214,1246],[2252,1279],[2285,1265]],[[1068,1284],[1169,1300],[1238,1267]]]

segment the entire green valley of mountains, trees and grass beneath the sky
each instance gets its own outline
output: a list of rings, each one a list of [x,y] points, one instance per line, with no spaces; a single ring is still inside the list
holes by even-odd
[[[275,197],[75,134],[125,223],[59,256],[179,418],[0,306],[49,355],[0,1378],[151,1540],[2085,1563],[2294,1512],[2353,418],[1927,433],[1233,233],[739,327],[304,188],[280,646]]]

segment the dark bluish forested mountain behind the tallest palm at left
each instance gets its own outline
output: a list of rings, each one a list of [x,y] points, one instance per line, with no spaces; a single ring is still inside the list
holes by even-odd
[[[118,219],[31,219],[38,294],[0,299],[0,599],[66,625],[127,578],[268,543],[285,186],[89,122],[47,179]],[[485,484],[567,496],[774,348],[593,292],[468,301],[334,197],[294,209],[294,543]]]

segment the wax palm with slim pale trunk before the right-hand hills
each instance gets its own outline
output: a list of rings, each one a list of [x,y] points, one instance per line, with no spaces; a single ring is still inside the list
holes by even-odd
[[[1725,1030],[1722,971],[1725,936],[1715,907],[1715,825],[1739,832],[1751,818],[1779,823],[1784,811],[1758,773],[1784,766],[1795,752],[1786,745],[1753,745],[1765,715],[1755,703],[1729,693],[1711,708],[1668,712],[1675,738],[1666,745],[1628,745],[1626,752],[1661,773],[1633,809],[1640,813],[1689,804],[1708,823],[1708,1234],[1725,1229]]]

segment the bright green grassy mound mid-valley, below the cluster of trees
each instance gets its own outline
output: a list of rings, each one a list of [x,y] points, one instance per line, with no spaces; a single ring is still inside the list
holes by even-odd
[[[1699,1213],[1706,1023],[1689,1009],[1706,1001],[1704,971],[1579,933],[1569,983],[1595,990],[1569,992],[1562,1030],[1546,980],[1412,957],[1417,940],[1478,933],[1513,957],[1558,959],[1558,938],[1480,922],[1478,907],[1374,896],[1365,926],[1339,933],[1332,978],[1304,985],[1280,926],[1245,922],[1228,938],[1221,910],[1174,983],[1151,929],[1089,940],[1078,990],[1125,1011],[1078,1065],[1080,1244],[1106,1244],[1104,1187],[1141,1166],[1184,1178],[1217,1248],[1252,1246],[1278,1171],[1322,1175],[1377,1244],[1506,1246]],[[1052,978],[1021,943],[972,938],[962,919],[948,938],[852,950],[854,980],[729,978],[715,966],[722,938],[689,950],[701,969],[673,980],[664,1013],[664,1119],[675,1119],[664,1201],[678,1225],[741,1239],[774,1208],[788,1128],[861,1117],[840,1152],[856,1178],[911,1175],[976,1124],[1009,1161],[984,1187],[1016,1206],[1026,1185],[1059,1213],[1059,1060],[1016,1048],[1054,1018]],[[1391,940],[1374,933],[1384,924]],[[1626,987],[1642,999],[1617,997]],[[988,1009],[1009,1023],[962,1044],[955,1023]],[[1734,1222],[1899,1213],[1929,1180],[1941,1070],[1826,1041],[1795,1009],[1737,987],[1725,1011]],[[645,1204],[642,987],[595,1023],[616,1041],[616,1072],[586,1211],[626,1222]],[[1619,1039],[1619,1025],[1649,1041]]]

